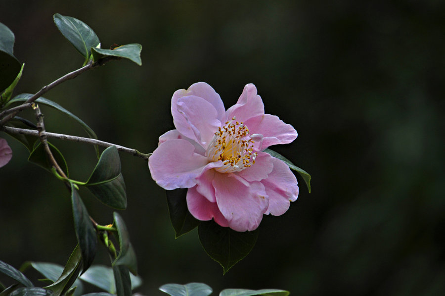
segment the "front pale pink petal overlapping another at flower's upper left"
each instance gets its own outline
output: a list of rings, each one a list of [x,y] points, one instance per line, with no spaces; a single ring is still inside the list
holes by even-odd
[[[207,148],[221,127],[215,107],[203,98],[186,96],[178,99],[178,112],[187,122],[186,125],[175,125],[178,132]]]

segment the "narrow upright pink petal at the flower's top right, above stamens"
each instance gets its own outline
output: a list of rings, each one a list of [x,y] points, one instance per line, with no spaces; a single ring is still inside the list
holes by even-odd
[[[247,84],[236,104],[228,108],[225,114],[228,120],[235,117],[236,121],[244,123],[251,117],[263,115],[263,100],[257,95],[255,85]]]

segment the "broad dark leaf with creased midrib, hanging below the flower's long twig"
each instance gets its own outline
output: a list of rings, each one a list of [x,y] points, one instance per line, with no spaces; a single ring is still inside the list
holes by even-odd
[[[86,186],[95,197],[106,205],[118,209],[127,207],[121,160],[116,146],[108,147],[102,152]]]

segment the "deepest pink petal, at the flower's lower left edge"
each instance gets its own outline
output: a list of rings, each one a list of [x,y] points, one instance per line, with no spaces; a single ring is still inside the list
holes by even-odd
[[[228,221],[218,209],[216,202],[210,202],[196,190],[196,186],[187,190],[187,207],[190,214],[198,220],[208,221],[214,219],[223,227],[228,226]]]

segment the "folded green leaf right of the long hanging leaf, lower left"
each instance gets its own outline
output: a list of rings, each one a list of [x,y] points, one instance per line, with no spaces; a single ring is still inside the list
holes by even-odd
[[[124,265],[130,269],[130,271],[136,275],[137,274],[137,261],[136,254],[134,253],[134,249],[132,244],[130,243],[130,235],[127,230],[127,226],[125,226],[124,220],[122,217],[114,212],[114,225],[118,231],[119,238],[119,255],[113,261],[112,266],[116,265]]]

